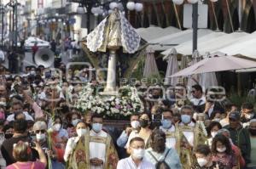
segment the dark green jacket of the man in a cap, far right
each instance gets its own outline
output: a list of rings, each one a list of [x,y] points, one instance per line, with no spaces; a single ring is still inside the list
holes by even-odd
[[[241,149],[242,157],[246,163],[249,163],[251,157],[251,142],[249,131],[246,128],[242,128],[241,126],[238,129],[231,128],[230,125],[224,128],[230,131],[230,138],[232,139],[233,144]]]

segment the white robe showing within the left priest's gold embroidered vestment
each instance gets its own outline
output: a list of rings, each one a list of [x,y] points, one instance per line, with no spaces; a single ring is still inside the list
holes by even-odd
[[[96,133],[93,130],[90,130],[90,136],[99,136],[99,137],[107,138],[108,133],[104,132],[104,131]],[[90,142],[89,149],[90,149],[90,159],[98,158],[98,159],[101,159],[103,161],[103,163],[105,163],[106,144]],[[103,166],[90,165],[90,169],[102,169],[102,168],[103,168]]]

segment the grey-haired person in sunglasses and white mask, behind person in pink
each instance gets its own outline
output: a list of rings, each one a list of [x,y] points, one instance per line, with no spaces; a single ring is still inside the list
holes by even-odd
[[[49,145],[47,142],[47,125],[44,121],[37,121],[33,125],[33,132],[36,134],[35,142],[37,142],[41,148],[44,150],[44,154],[50,158],[52,168],[64,169],[65,166],[56,161],[57,154],[55,150],[49,149]],[[49,165],[49,164],[48,164]]]

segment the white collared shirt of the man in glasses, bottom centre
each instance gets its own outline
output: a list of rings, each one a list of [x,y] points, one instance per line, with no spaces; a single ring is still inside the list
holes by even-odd
[[[155,166],[143,159],[143,161],[136,166],[134,161],[132,160],[131,156],[125,159],[122,159],[118,162],[117,169],[155,169]]]

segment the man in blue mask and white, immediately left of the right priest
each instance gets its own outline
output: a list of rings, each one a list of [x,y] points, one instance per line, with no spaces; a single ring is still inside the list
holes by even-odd
[[[162,111],[162,120],[160,130],[166,133],[166,147],[175,149],[177,132],[175,132],[175,125],[172,121],[172,110]]]

